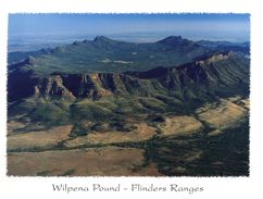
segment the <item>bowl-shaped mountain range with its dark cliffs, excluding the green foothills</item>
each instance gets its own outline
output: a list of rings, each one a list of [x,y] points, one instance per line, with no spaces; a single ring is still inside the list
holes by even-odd
[[[187,110],[220,97],[249,95],[249,60],[181,37],[140,45],[101,36],[41,50],[9,65],[8,90],[9,101],[16,101],[10,113],[27,98],[37,99],[30,114],[47,101],[63,99],[76,105],[83,99],[93,103],[117,97],[136,98],[133,111]],[[105,112],[111,115],[118,109]]]

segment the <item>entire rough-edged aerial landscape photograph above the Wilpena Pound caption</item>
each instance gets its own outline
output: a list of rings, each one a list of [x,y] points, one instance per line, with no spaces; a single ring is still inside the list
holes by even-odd
[[[250,15],[9,14],[8,176],[249,176]]]

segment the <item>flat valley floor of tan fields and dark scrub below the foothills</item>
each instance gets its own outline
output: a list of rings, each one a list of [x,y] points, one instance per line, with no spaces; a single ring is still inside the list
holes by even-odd
[[[128,132],[72,137],[73,125],[21,132],[8,123],[8,175],[249,175],[249,100],[221,99],[191,115],[164,115]]]

